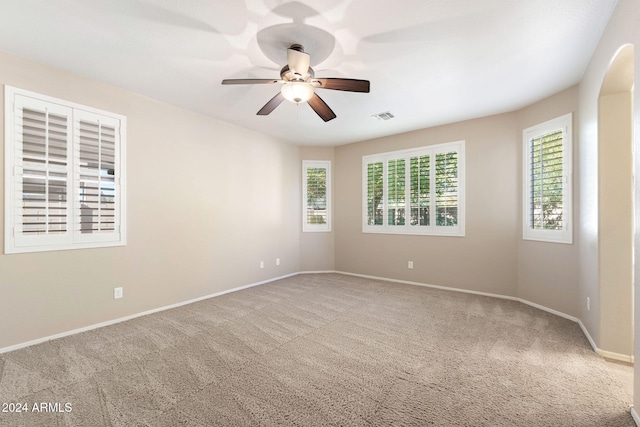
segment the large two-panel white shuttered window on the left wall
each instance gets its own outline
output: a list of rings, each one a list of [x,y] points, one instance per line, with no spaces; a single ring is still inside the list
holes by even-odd
[[[123,116],[5,86],[5,253],[124,245]]]

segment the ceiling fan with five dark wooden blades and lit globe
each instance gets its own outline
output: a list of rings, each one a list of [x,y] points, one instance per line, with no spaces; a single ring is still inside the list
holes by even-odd
[[[310,56],[299,44],[292,44],[287,49],[287,65],[280,70],[280,79],[225,79],[223,85],[272,84],[283,83],[280,92],[258,111],[259,116],[266,116],[276,109],[285,99],[296,104],[307,102],[325,122],[335,119],[336,115],[315,93],[315,89],[333,89],[347,92],[369,92],[368,80],[342,79],[335,77],[316,78],[313,68],[309,66]]]

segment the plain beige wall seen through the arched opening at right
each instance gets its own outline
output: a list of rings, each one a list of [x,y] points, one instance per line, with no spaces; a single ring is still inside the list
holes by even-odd
[[[598,114],[598,263],[602,349],[633,353],[631,92],[601,96]]]

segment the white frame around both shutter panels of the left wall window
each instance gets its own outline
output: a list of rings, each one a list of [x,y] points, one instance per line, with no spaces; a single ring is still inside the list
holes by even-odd
[[[4,253],[5,254],[17,254],[17,253],[31,253],[31,252],[45,252],[45,251],[58,251],[58,250],[72,250],[72,249],[87,249],[87,248],[101,248],[112,246],[125,246],[126,245],[126,117],[120,114],[88,107],[86,105],[76,104],[73,102],[65,101],[62,99],[54,98],[47,95],[42,95],[36,92],[31,92],[24,89],[19,89],[9,85],[5,85],[5,174],[4,174]],[[17,100],[20,97],[20,100]],[[51,108],[63,108],[70,114],[68,115],[67,122],[67,158],[70,160],[66,166],[66,181],[68,185],[67,194],[67,231],[64,234],[60,234],[55,238],[52,235],[41,236],[21,236],[17,237],[15,227],[16,221],[20,218],[17,214],[19,209],[17,198],[17,168],[19,162],[16,159],[18,155],[18,135],[20,130],[17,128],[18,117],[16,115],[16,103],[24,102],[24,100],[31,100],[36,103],[47,104]],[[31,101],[28,101],[29,103]],[[33,104],[32,104],[33,105]],[[91,233],[93,238],[89,237],[88,233],[77,232],[79,227],[79,219],[76,218],[76,208],[79,206],[79,194],[78,194],[78,174],[77,162],[78,162],[78,126],[80,117],[89,113],[91,115],[98,115],[102,118],[113,120],[118,123],[119,135],[116,137],[115,149],[115,166],[116,166],[116,183],[115,186],[118,191],[117,200],[117,223],[116,230],[113,233]],[[82,236],[80,234],[83,234]],[[24,239],[24,237],[29,237]]]

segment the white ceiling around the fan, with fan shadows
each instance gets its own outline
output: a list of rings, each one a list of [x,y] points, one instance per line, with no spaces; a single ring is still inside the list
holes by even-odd
[[[513,111],[577,84],[616,0],[3,0],[0,50],[303,145]],[[371,81],[256,112],[304,45],[316,77]],[[390,111],[395,118],[376,120]]]

